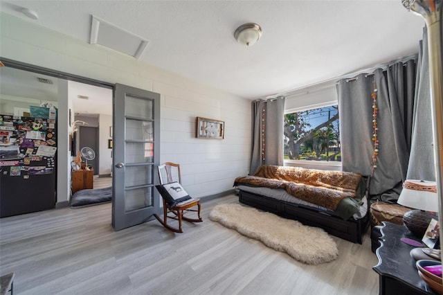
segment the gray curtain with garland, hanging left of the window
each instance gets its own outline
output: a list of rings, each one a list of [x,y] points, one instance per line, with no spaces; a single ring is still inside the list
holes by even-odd
[[[262,114],[264,111],[264,138]],[[284,97],[252,102],[252,152],[249,174],[266,165],[283,165]],[[264,149],[263,143],[264,141]],[[262,157],[264,153],[264,159]]]

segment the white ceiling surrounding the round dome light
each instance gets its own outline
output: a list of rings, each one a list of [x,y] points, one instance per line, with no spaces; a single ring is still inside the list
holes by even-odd
[[[35,10],[28,19],[19,8]],[[337,78],[418,51],[424,21],[401,0],[1,1],[0,10],[89,42],[91,15],[147,39],[140,60],[258,98]],[[257,44],[238,44],[246,23]]]

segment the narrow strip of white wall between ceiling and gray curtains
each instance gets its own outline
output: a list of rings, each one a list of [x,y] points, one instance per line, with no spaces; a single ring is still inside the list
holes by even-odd
[[[323,89],[323,88],[331,87],[334,84],[336,84],[336,82],[338,80],[345,79],[345,78],[348,78],[348,79],[354,78],[354,76],[359,75],[361,73],[373,72],[373,71],[375,71],[376,69],[379,69],[379,68],[382,68],[382,69],[383,68],[387,68],[390,64],[395,64],[397,62],[406,62],[408,60],[417,59],[417,57],[418,57],[418,53],[415,53],[413,55],[408,55],[408,56],[405,56],[405,57],[401,57],[401,58],[399,58],[397,60],[392,60],[392,61],[387,62],[385,64],[378,64],[377,66],[372,66],[371,68],[368,68],[368,69],[363,69],[363,70],[355,71],[353,73],[347,73],[345,75],[341,75],[341,76],[338,76],[336,78],[331,78],[331,79],[323,80],[323,81],[320,81],[320,82],[316,82],[314,84],[309,84],[307,86],[298,87],[296,89],[291,89],[291,90],[288,90],[288,91],[284,91],[282,93],[270,94],[269,96],[265,96],[264,99],[276,98],[278,96],[294,96],[294,95],[298,94],[298,92],[302,92],[302,91],[307,91],[307,93],[309,93],[310,91],[316,91],[316,90],[320,90],[320,89]],[[313,88],[313,89],[311,89],[311,88]]]

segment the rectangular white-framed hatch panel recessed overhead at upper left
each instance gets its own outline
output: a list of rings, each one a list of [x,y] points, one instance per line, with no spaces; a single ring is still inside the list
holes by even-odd
[[[138,59],[148,41],[92,15],[90,44],[100,44]]]

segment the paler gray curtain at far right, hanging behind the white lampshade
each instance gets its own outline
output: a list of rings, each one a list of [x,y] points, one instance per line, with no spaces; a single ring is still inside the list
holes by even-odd
[[[420,42],[415,93],[413,136],[407,179],[435,181],[435,159],[432,129],[431,82],[429,77],[428,40],[426,27]]]

